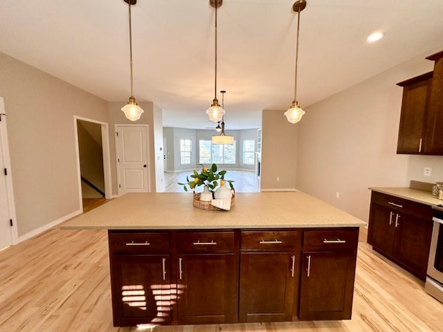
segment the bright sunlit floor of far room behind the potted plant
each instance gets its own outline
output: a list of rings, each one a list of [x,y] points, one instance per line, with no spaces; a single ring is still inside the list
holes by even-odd
[[[165,172],[165,192],[184,192],[183,185],[177,182],[186,183],[186,176],[190,174],[192,171]],[[228,169],[226,180],[235,181],[235,192],[259,192],[260,182],[253,171]]]

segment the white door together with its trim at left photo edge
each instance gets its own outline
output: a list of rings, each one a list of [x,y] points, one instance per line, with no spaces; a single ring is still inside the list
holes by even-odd
[[[6,112],[0,97],[0,250],[17,243],[17,219],[10,165]]]

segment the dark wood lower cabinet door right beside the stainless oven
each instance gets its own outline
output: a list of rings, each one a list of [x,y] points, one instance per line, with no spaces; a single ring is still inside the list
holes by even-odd
[[[408,214],[399,215],[399,220],[395,223],[393,255],[422,280],[426,279],[432,228],[431,220]]]

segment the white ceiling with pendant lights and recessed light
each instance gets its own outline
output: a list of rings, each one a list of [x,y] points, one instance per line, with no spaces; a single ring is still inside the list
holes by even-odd
[[[289,108],[294,1],[224,0],[219,8],[217,91],[227,91],[226,131],[260,127],[262,109]],[[209,0],[138,0],[132,7],[134,96],[161,107],[165,127],[215,126],[205,113],[215,88],[214,12]],[[368,44],[376,30],[385,37]],[[123,0],[1,0],[0,31],[1,52],[105,100],[127,102]],[[435,49],[442,37],[442,0],[307,0],[298,102],[307,107]]]

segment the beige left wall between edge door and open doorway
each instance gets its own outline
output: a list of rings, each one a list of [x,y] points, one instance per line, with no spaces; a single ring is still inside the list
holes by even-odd
[[[73,116],[107,122],[107,102],[0,53],[0,95],[19,237],[80,210]]]

